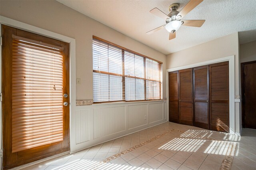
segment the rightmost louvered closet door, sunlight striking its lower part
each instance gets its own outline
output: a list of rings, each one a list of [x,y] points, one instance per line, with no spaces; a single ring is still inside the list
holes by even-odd
[[[210,64],[210,129],[229,132],[228,62]]]

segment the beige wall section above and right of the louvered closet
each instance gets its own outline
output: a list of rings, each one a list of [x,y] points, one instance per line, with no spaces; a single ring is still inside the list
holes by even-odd
[[[241,130],[241,113],[240,113],[240,61],[239,61],[239,41],[238,33],[233,33],[206,43],[178,51],[167,55],[166,68],[175,68],[190,64],[210,61],[223,57],[234,55],[234,70],[230,74],[234,74],[234,93],[236,98],[234,116],[235,127],[232,129],[234,133],[240,135]]]

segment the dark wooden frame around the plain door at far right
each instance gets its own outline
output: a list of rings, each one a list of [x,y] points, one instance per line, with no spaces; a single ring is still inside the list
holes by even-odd
[[[245,105],[245,101],[244,101],[244,65],[245,64],[252,64],[252,63],[256,63],[256,61],[249,61],[249,62],[244,62],[241,63],[241,109],[242,109],[242,127],[244,127],[244,105]]]

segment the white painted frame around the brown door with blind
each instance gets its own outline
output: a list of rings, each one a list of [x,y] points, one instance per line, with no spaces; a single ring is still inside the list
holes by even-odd
[[[39,35],[43,35],[46,37],[50,37],[53,39],[58,39],[60,41],[64,41],[66,43],[70,43],[70,152],[74,152],[76,149],[76,128],[72,127],[72,125],[75,125],[75,112],[76,112],[76,40],[64,35],[60,35],[58,33],[54,33],[52,31],[48,31],[46,29],[42,29],[39,27],[35,27],[33,25],[29,25],[26,23],[22,23],[20,21],[16,21],[16,20],[12,20],[10,18],[4,17],[4,16],[0,16],[0,32],[2,35],[2,30],[1,27],[3,25],[8,25],[10,27],[14,27],[14,28],[18,28],[18,29],[22,29],[24,31],[29,31],[32,33],[36,33]],[[1,47],[1,52],[0,52],[0,64],[2,63],[2,47]],[[1,67],[2,68],[2,67]],[[0,76],[2,76],[2,69],[0,69]],[[2,92],[2,78],[0,78],[0,90]],[[2,102],[0,102],[0,121],[1,121],[1,126],[0,126],[0,149],[2,150]],[[63,153],[66,154],[66,153]],[[53,157],[50,158],[45,158],[43,160],[49,160],[55,157],[58,157],[60,155],[63,154],[59,154],[59,155],[55,155]],[[26,164],[26,166],[22,166],[22,168],[26,168],[28,166],[32,166],[34,164],[37,164],[38,162],[40,162],[42,160],[39,161],[35,161],[29,164]],[[0,159],[0,167],[2,167],[2,158]]]

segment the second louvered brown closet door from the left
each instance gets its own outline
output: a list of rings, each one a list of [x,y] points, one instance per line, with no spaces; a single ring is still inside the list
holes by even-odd
[[[180,123],[193,125],[193,69],[179,70]]]

